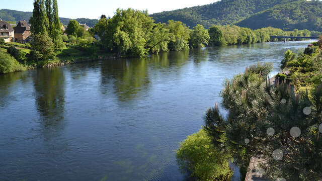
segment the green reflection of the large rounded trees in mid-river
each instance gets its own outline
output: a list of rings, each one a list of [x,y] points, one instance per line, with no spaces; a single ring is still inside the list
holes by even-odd
[[[141,59],[107,60],[101,65],[101,92],[112,91],[122,102],[130,102],[148,92],[151,75],[159,69],[169,70],[174,67],[177,72],[188,61],[189,51],[165,52],[153,54]],[[170,69],[173,71],[173,69]]]

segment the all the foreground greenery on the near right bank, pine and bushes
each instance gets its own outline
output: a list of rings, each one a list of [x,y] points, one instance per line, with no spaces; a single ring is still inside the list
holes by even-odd
[[[322,38],[298,55],[286,51],[282,73],[272,78],[275,83],[268,78],[272,68],[271,63],[258,63],[225,81],[220,106],[210,108],[205,126],[177,149],[183,172],[199,180],[227,181],[231,173],[226,162],[231,161],[245,180],[253,157],[265,158],[256,168],[258,179],[320,179]],[[226,117],[219,107],[227,111]],[[200,153],[207,156],[196,159]],[[225,171],[215,172],[218,167]]]

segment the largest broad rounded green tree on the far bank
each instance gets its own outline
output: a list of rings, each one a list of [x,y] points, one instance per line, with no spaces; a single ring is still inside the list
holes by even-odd
[[[100,20],[104,24],[104,17]],[[144,57],[149,51],[154,22],[146,11],[117,9],[114,17],[108,20],[106,29],[101,30],[103,45],[118,54]]]

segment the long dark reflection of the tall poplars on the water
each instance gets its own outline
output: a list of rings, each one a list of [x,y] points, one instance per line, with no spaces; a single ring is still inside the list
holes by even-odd
[[[65,77],[61,68],[37,69],[33,76],[35,101],[44,136],[49,139],[64,128]]]

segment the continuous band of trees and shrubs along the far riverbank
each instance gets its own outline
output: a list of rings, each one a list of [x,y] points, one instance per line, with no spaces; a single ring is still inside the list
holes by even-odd
[[[0,41],[0,73],[53,67],[96,59],[146,57],[159,52],[182,51],[205,46],[227,46],[284,41],[270,36],[318,36],[309,30],[277,28],[251,30],[235,25],[197,25],[190,29],[180,21],[155,23],[147,11],[118,9],[113,18],[102,15],[88,31],[70,20],[65,31],[58,18],[56,1],[35,0],[30,19],[32,41],[26,44]],[[287,39],[291,40],[291,39]],[[301,39],[292,39],[301,40]],[[3,55],[5,56],[5,55]],[[8,56],[6,56],[8,57]],[[17,62],[15,62],[18,61]]]

